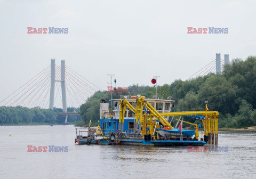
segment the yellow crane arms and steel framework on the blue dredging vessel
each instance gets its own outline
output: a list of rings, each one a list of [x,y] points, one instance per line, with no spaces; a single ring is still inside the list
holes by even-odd
[[[201,115],[204,127],[204,140],[209,141],[209,144],[218,144],[218,111],[186,111],[186,112],[158,112],[146,99],[145,96],[137,96],[136,107],[134,108],[126,99],[119,100],[119,125],[118,134],[123,132],[124,116],[126,108],[135,113],[134,118],[134,133],[141,133],[142,136],[150,134],[153,136],[156,133],[156,125],[159,121],[163,126],[167,125],[169,129],[174,127],[164,118],[164,116],[187,116]],[[149,112],[147,112],[147,109]],[[206,104],[207,109],[207,104]],[[154,118],[154,119],[153,119]],[[213,120],[209,120],[209,118]],[[187,121],[184,121],[188,123]],[[191,123],[192,125],[196,125]],[[158,125],[159,126],[159,125]],[[149,128],[149,130],[148,130]],[[198,139],[198,126],[196,126],[196,139]]]

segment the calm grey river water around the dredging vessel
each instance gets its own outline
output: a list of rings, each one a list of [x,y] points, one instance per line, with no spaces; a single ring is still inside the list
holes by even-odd
[[[0,126],[0,178],[256,178],[255,132],[219,132],[226,152],[77,145],[74,139],[70,125]],[[28,145],[68,151],[28,152]]]

